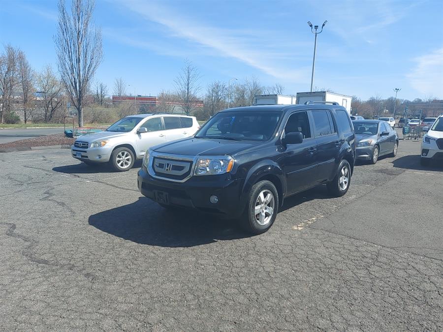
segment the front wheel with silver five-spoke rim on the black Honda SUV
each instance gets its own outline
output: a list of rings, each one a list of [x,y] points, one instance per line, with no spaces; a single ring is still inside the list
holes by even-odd
[[[242,216],[243,228],[253,234],[266,232],[274,224],[279,210],[279,194],[271,181],[258,181],[249,192]]]

